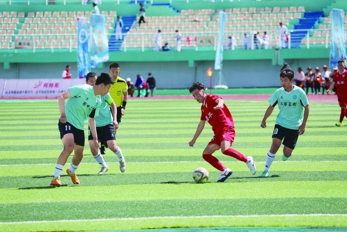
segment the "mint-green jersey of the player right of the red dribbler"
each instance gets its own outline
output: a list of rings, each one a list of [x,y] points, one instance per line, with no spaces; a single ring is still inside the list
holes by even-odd
[[[273,107],[278,104],[280,109],[276,124],[288,129],[299,129],[303,120],[303,107],[308,105],[306,93],[302,88],[294,85],[290,92],[283,87],[279,88],[272,94],[269,103]]]

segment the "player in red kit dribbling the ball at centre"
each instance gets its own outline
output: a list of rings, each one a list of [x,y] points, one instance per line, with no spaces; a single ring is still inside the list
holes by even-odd
[[[202,103],[201,117],[198,128],[196,129],[193,139],[188,143],[193,147],[196,139],[204,129],[207,121],[214,132],[211,142],[205,148],[202,157],[212,166],[221,171],[221,175],[217,182],[224,182],[231,174],[231,169],[224,166],[212,154],[221,149],[224,155],[230,155],[238,160],[245,162],[254,175],[257,171],[252,156],[244,156],[241,153],[231,148],[231,144],[235,138],[234,123],[228,107],[224,104],[222,97],[213,94],[206,94],[205,85],[201,82],[195,82],[190,86],[189,92],[197,102]]]

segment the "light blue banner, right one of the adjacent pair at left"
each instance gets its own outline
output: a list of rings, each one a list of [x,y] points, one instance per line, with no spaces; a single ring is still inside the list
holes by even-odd
[[[96,68],[98,64],[109,60],[109,40],[105,29],[105,16],[91,14],[90,28],[92,37],[91,65],[92,68]]]

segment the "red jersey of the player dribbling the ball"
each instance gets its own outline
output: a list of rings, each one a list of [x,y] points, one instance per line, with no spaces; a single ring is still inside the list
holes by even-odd
[[[207,121],[211,126],[215,135],[218,135],[223,129],[234,128],[231,113],[228,107],[224,104],[222,109],[215,110],[217,106],[216,99],[222,98],[214,94],[206,94],[204,102],[201,106],[201,120]]]

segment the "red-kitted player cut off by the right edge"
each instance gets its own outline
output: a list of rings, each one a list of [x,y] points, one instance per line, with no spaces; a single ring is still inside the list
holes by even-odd
[[[331,82],[327,93],[329,94],[336,84],[336,91],[338,95],[339,105],[341,107],[340,120],[335,124],[341,127],[344,117],[347,117],[347,70],[345,70],[345,62],[338,62],[338,72],[334,75],[333,82]]]

